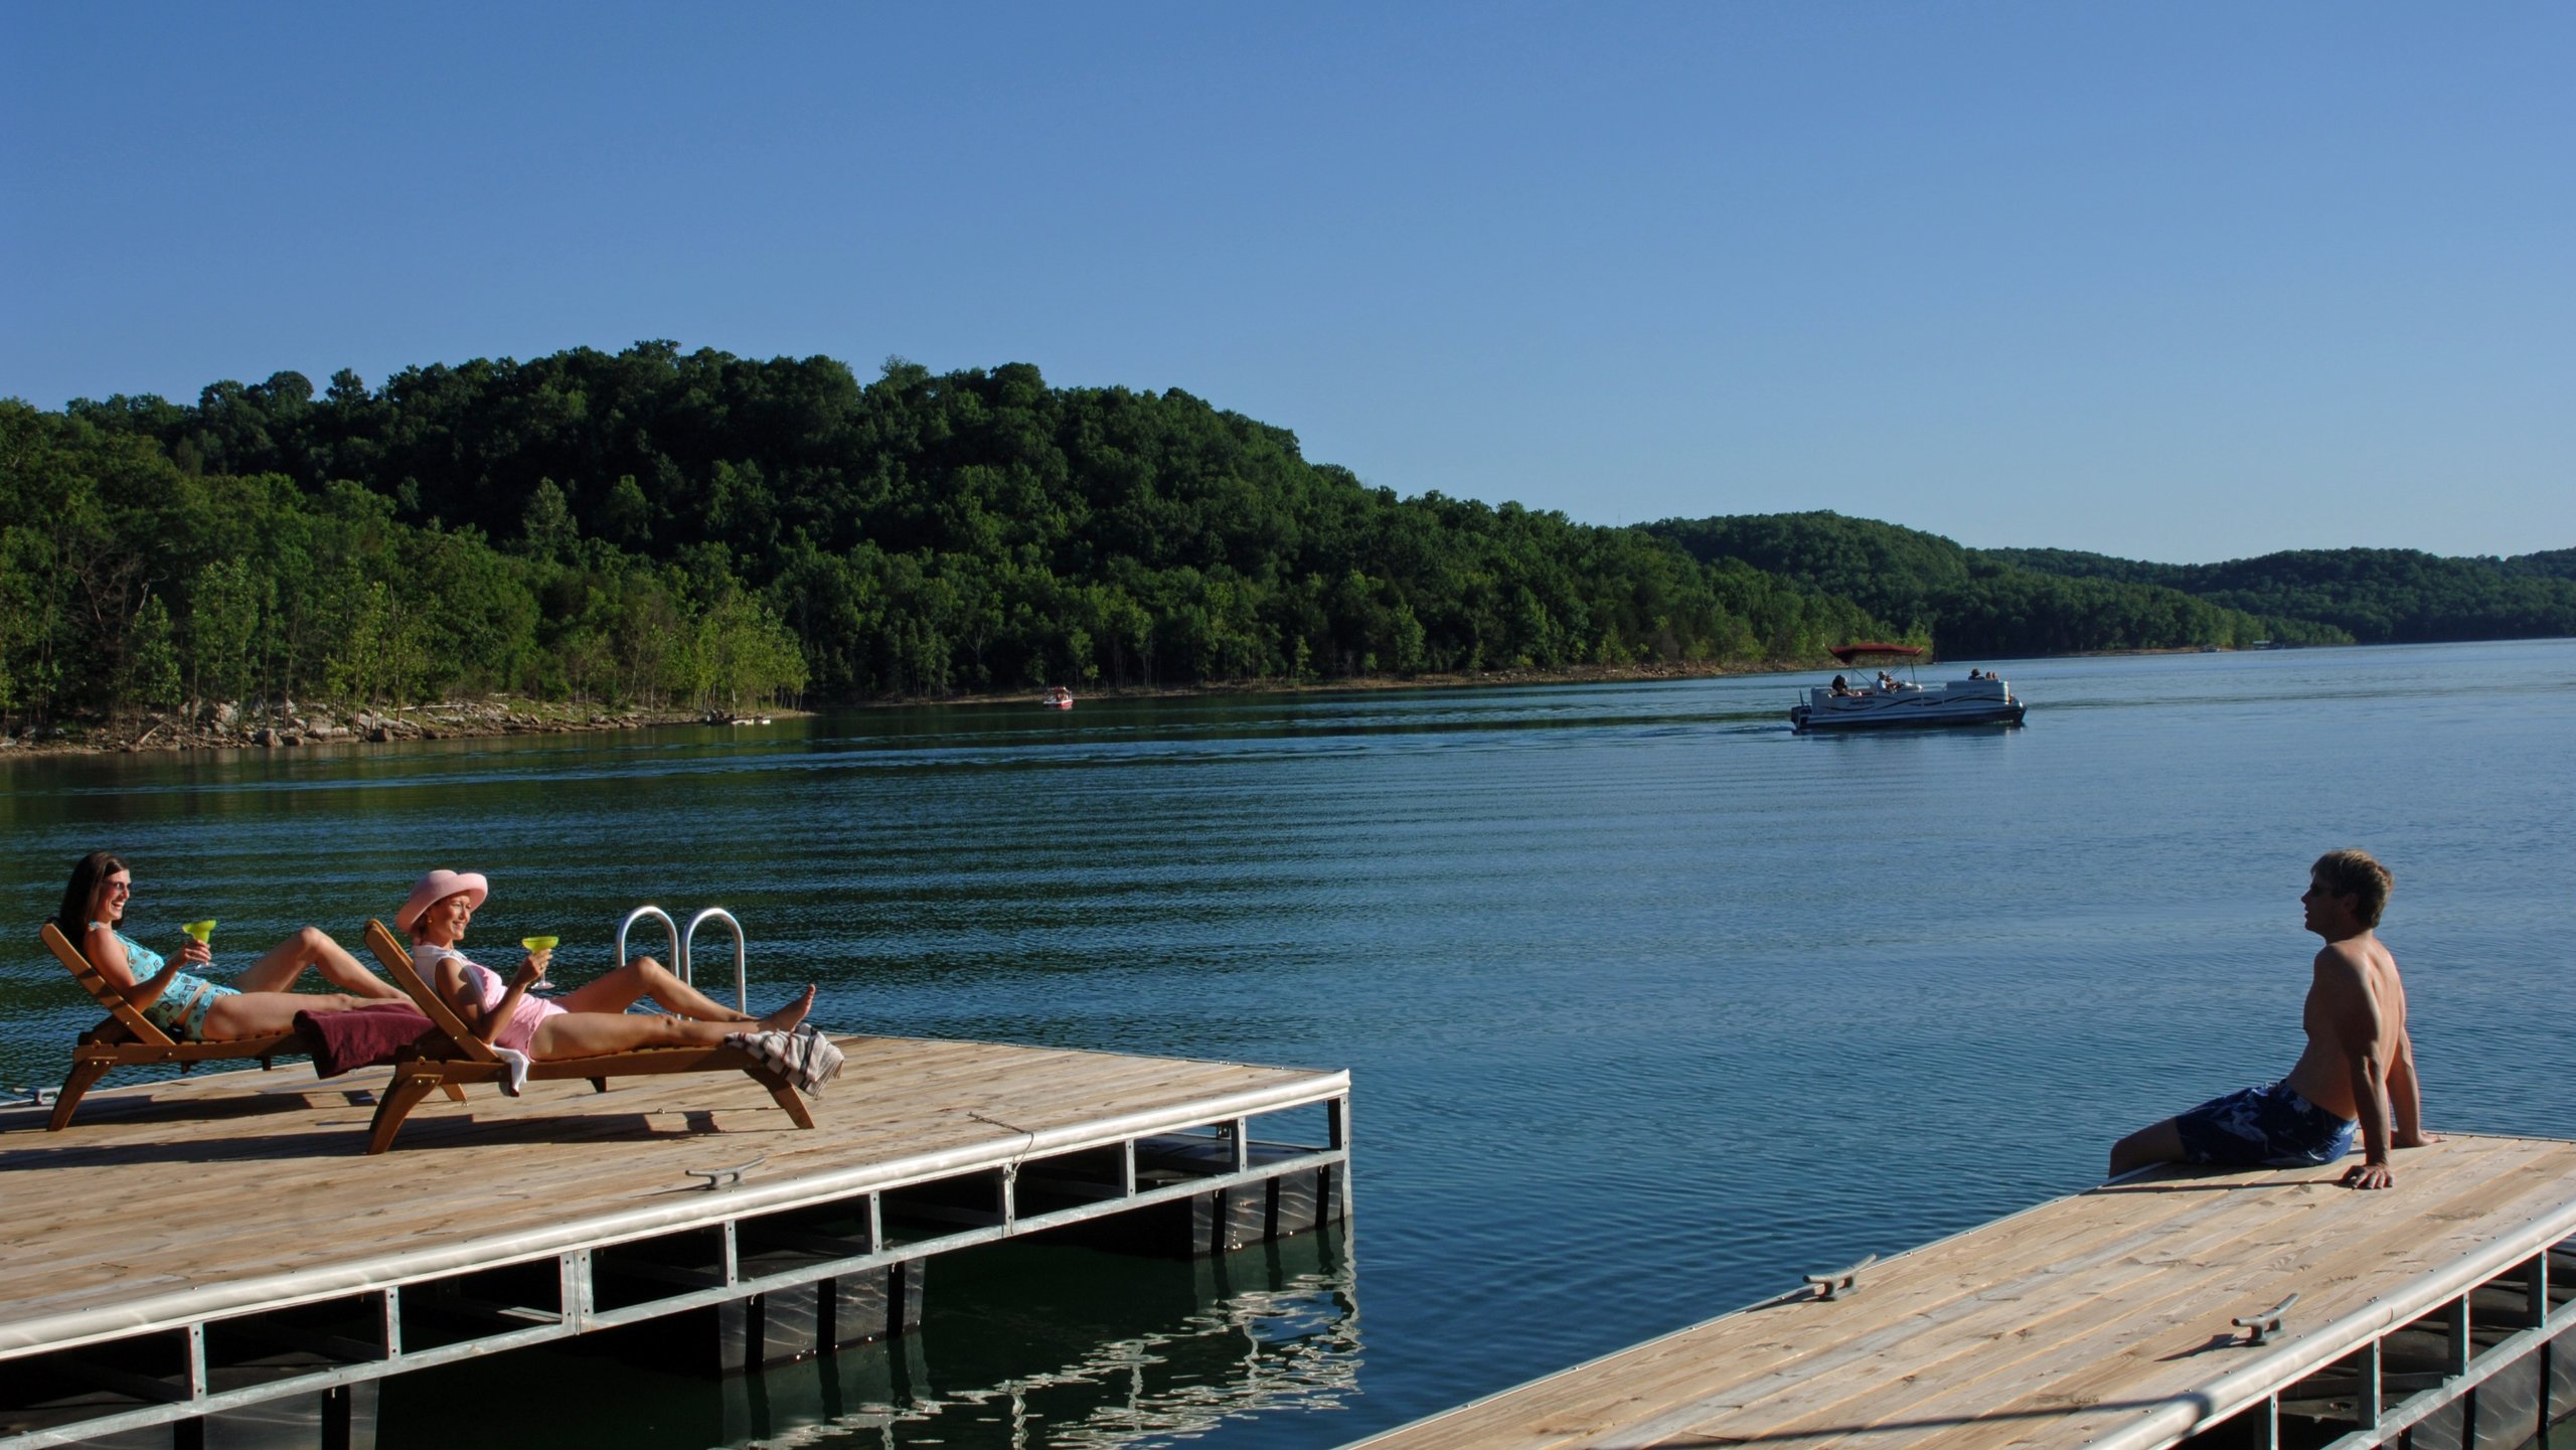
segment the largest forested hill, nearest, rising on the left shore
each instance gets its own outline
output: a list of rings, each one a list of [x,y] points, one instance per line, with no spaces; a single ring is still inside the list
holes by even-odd
[[[647,343],[0,402],[0,719],[1814,657],[1883,623],[1182,391]]]

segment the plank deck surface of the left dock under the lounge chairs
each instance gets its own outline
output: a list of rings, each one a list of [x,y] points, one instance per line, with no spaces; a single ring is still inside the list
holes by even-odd
[[[793,1208],[1030,1154],[1216,1123],[1347,1092],[1347,1074],[1072,1048],[842,1038],[848,1064],[799,1131],[742,1074],[531,1084],[433,1100],[386,1156],[361,1154],[379,1071],[309,1066],[108,1089],[64,1133],[0,1110],[0,1355],[137,1301],[355,1285],[422,1259],[526,1257],[582,1223],[605,1239],[703,1218],[683,1169],[765,1162],[729,1213]],[[1249,1105],[1249,1107],[1247,1107]],[[551,1252],[551,1249],[546,1249]],[[348,1293],[348,1290],[340,1290]],[[36,1329],[41,1321],[41,1329]]]

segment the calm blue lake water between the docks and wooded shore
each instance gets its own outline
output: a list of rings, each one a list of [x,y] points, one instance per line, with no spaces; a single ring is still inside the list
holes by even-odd
[[[477,868],[477,940],[562,932],[574,981],[626,907],[721,901],[755,999],[819,981],[835,1030],[1355,1074],[1347,1234],[940,1259],[920,1337],[726,1386],[497,1370],[600,1388],[564,1445],[1340,1445],[2277,1077],[2336,845],[2396,871],[2427,1120],[2576,1136],[2576,641],[2004,675],[2027,729],[1801,739],[1806,677],[1734,677],[15,760],[0,896],[31,937],[106,845],[222,966]],[[95,1012],[23,948],[0,1082],[57,1082]],[[459,1391],[386,1388],[384,1445]]]

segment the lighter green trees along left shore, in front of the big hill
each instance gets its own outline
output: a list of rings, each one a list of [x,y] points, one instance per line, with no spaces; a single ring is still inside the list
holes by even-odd
[[[348,479],[188,474],[152,438],[0,399],[0,721],[804,688],[786,623],[698,559],[500,549],[394,513]]]

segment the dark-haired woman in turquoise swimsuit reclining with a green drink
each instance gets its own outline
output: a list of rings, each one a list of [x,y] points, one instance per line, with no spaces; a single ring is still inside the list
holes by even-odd
[[[250,963],[234,979],[240,986],[216,986],[198,976],[214,961],[206,943],[191,940],[180,948],[178,961],[165,963],[157,950],[124,932],[131,894],[134,873],[126,871],[126,863],[93,850],[72,865],[72,881],[62,889],[62,912],[54,925],[64,937],[80,943],[80,953],[126,994],[126,1002],[183,1043],[286,1033],[296,1025],[296,1012],[410,1004],[399,986],[358,966],[358,958],[348,956],[319,927],[299,930]],[[289,992],[307,966],[340,992]]]

